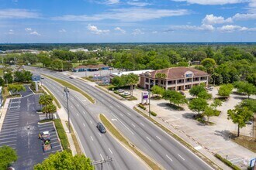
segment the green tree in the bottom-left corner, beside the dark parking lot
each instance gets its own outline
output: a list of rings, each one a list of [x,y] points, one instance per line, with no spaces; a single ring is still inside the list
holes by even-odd
[[[9,146],[0,147],[0,169],[7,169],[12,162],[17,161],[17,153]]]

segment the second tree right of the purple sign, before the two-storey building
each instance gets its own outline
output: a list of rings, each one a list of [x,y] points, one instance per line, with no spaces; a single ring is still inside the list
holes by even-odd
[[[179,93],[178,91],[175,91],[175,90],[164,91],[163,97],[165,100],[169,100],[170,103],[178,105],[178,106],[179,106],[179,104],[187,103],[185,96],[183,96],[182,93]]]

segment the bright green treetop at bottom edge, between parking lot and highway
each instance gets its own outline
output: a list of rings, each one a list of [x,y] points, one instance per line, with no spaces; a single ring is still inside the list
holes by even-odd
[[[51,154],[41,164],[34,166],[34,170],[70,169],[70,170],[93,170],[90,158],[85,155],[74,155],[67,151]]]

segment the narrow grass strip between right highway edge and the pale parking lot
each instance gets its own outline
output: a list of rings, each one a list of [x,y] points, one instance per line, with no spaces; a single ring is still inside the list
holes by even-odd
[[[199,158],[202,158],[203,161],[205,161],[207,164],[211,165],[214,169],[221,169],[218,165],[216,165],[214,162],[212,162],[205,155],[202,155],[202,153],[200,153],[195,148],[193,148],[191,145],[189,145],[186,141],[184,141],[182,138],[180,138],[177,134],[174,134],[168,128],[165,128],[162,124],[158,123],[157,121],[154,121],[153,118],[148,117],[146,114],[144,114],[143,111],[137,109],[137,107],[133,107],[133,110],[136,110],[137,113],[139,113],[142,116],[146,117],[153,124],[157,125],[157,127],[161,128],[163,131],[165,131],[166,133],[170,134],[173,138],[175,138],[177,141],[182,143],[182,145],[185,145],[185,147],[189,148],[193,153],[195,153],[195,155],[199,156]]]

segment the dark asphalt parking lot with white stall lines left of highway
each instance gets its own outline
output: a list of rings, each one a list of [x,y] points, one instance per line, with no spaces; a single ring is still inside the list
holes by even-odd
[[[33,169],[37,163],[43,162],[50,153],[61,151],[61,143],[57,138],[54,124],[38,124],[40,95],[33,94],[28,87],[22,97],[11,99],[0,130],[0,147],[8,145],[18,154],[18,160],[12,165],[16,169]],[[38,139],[40,131],[50,131],[52,149],[43,152],[42,141]]]

